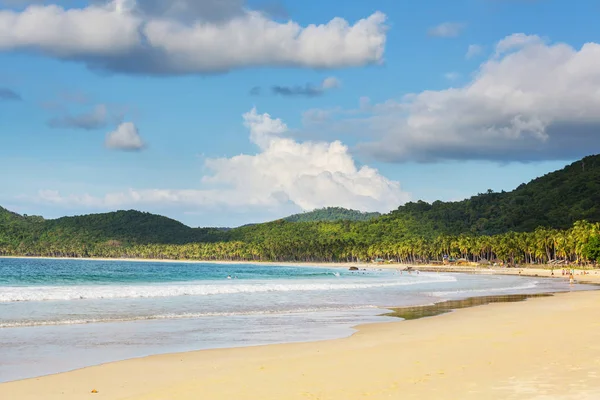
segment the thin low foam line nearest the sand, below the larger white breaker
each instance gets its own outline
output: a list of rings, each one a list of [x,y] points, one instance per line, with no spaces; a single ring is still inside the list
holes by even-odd
[[[203,317],[235,317],[235,316],[253,316],[253,315],[274,315],[274,314],[302,314],[311,312],[330,312],[330,311],[352,311],[367,310],[379,308],[374,305],[347,306],[347,307],[322,307],[322,308],[299,308],[292,310],[256,310],[241,312],[205,312],[205,313],[180,313],[180,314],[156,314],[156,315],[132,315],[125,317],[101,317],[101,318],[77,318],[77,319],[59,319],[59,320],[23,320],[23,321],[2,321],[2,328],[25,328],[34,326],[57,326],[57,325],[83,325],[95,323],[110,322],[135,322],[135,321],[156,321],[156,320],[177,320],[194,319]]]

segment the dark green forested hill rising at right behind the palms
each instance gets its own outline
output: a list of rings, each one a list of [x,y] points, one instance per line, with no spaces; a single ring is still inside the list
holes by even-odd
[[[586,157],[511,192],[488,191],[459,202],[407,203],[384,218],[417,220],[433,232],[453,234],[566,229],[578,220],[598,222],[600,156]]]

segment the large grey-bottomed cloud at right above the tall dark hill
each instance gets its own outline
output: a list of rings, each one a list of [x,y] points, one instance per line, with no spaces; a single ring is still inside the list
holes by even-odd
[[[372,105],[345,127],[390,162],[579,158],[600,147],[598,65],[600,44],[510,35],[464,86]]]

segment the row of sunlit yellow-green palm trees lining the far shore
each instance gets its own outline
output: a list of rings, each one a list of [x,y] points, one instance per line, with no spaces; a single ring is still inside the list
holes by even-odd
[[[384,259],[402,263],[426,263],[444,258],[471,262],[542,264],[552,260],[567,263],[596,261],[600,223],[578,221],[568,230],[538,228],[533,232],[508,232],[494,236],[439,235],[384,236],[368,242],[358,237],[332,233],[318,239],[262,237],[256,242],[190,243],[182,245],[127,245],[102,243],[33,243],[11,247],[0,244],[0,255],[49,257],[109,257],[170,260],[355,262]],[[592,247],[593,247],[592,246]],[[597,249],[600,252],[600,249]]]

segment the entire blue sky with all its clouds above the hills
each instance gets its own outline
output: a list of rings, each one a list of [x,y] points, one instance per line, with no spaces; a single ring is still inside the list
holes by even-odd
[[[239,226],[512,190],[600,145],[600,4],[0,0],[0,205]]]

